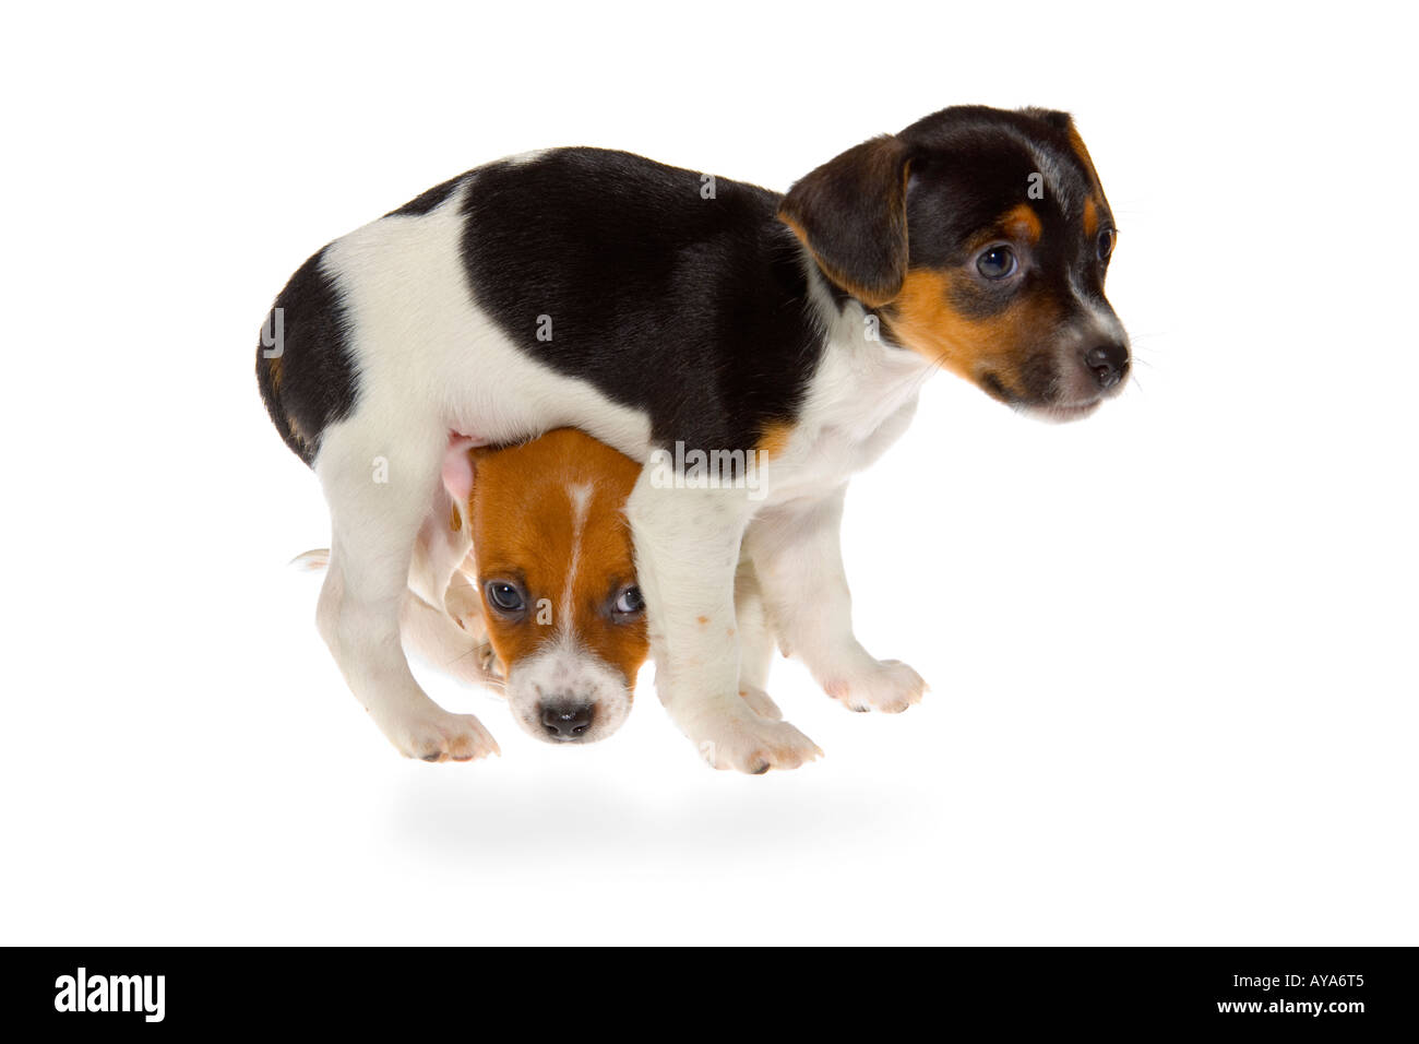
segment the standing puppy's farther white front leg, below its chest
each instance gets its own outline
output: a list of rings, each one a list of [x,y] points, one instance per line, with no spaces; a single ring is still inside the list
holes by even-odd
[[[905,663],[873,658],[853,635],[839,537],[846,489],[765,509],[745,534],[745,550],[783,652],[799,656],[823,690],[851,710],[895,713],[927,686]]]

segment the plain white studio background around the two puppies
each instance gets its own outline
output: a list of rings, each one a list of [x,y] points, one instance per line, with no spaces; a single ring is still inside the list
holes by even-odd
[[[6,16],[3,942],[1419,942],[1410,14],[484,7]],[[939,376],[854,482],[927,702],[780,660],[827,757],[744,778],[648,670],[575,750],[423,670],[504,757],[400,760],[285,567],[291,271],[511,152],[786,189],[961,102],[1076,114],[1139,365],[1066,428]]]

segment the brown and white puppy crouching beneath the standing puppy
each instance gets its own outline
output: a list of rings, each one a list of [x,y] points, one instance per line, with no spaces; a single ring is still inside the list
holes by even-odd
[[[507,447],[450,446],[448,511],[420,535],[400,614],[406,648],[501,690],[518,724],[541,740],[610,736],[630,712],[648,651],[624,516],[639,473],[572,429]],[[298,561],[319,567],[328,554]],[[467,761],[497,750],[481,726],[475,736],[481,743],[421,757]]]

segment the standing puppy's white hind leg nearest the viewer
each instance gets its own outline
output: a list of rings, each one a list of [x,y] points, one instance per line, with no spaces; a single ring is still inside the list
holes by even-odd
[[[316,622],[355,697],[406,757],[471,761],[498,746],[471,714],[424,695],[400,645],[414,540],[438,489],[447,432],[406,423],[326,429],[315,473],[331,507],[331,564]]]

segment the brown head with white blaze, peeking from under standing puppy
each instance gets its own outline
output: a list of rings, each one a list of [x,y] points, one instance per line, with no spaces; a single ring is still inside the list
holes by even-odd
[[[604,739],[648,652],[623,514],[640,469],[570,429],[473,455],[473,553],[512,716],[548,743]]]

